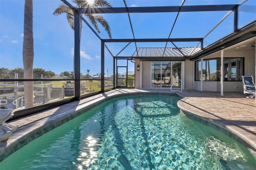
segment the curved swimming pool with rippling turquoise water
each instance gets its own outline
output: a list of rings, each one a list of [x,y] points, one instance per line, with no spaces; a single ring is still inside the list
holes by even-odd
[[[1,169],[253,169],[238,142],[180,114],[175,96],[107,101],[33,140]],[[12,163],[13,162],[13,163]]]

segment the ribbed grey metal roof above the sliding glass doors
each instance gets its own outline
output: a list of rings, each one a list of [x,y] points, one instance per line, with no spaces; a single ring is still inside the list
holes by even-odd
[[[194,50],[193,50],[194,49]],[[181,47],[181,48],[173,48],[173,47],[166,47],[164,50],[164,47],[160,48],[137,48],[137,51],[135,50],[132,54],[132,57],[187,57],[188,55],[191,55],[193,53],[196,53],[201,50],[200,47]],[[163,55],[164,53],[164,55]]]

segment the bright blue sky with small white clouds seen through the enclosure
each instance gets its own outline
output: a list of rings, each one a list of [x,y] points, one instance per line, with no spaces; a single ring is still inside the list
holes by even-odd
[[[71,1],[69,1],[71,2]],[[109,0],[113,7],[124,7],[122,0]],[[179,6],[181,0],[126,0],[129,7]],[[186,5],[236,4],[240,0],[186,0]],[[54,16],[54,10],[62,4],[60,0],[34,0],[34,68],[43,68],[56,74],[73,71],[74,31],[71,30],[65,14]],[[256,0],[246,5],[256,6]],[[241,8],[243,9],[243,8]],[[244,8],[246,10],[246,7]],[[184,12],[180,13],[170,38],[202,38],[227,14],[222,12]],[[177,13],[130,14],[135,38],[168,38]],[[133,38],[127,14],[104,14],[112,30],[112,38]],[[256,14],[240,12],[240,26],[255,20]],[[23,67],[23,0],[0,0],[0,67],[14,69]],[[204,46],[232,32],[231,14],[204,41]],[[108,38],[100,28],[101,38]],[[127,43],[106,43],[116,55]],[[176,43],[179,47],[194,47],[197,42]],[[137,47],[164,47],[166,43],[137,43]],[[173,47],[168,43],[167,47]],[[113,74],[113,59],[105,49],[105,76]],[[130,56],[135,51],[134,43],[119,56]],[[100,40],[83,24],[81,37],[81,73],[100,73]],[[120,63],[122,65],[122,63]],[[129,71],[134,67],[129,64]]]

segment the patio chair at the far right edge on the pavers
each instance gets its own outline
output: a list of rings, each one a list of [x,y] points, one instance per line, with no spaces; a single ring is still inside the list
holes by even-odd
[[[246,98],[255,98],[255,84],[251,75],[242,75],[244,94],[250,94]]]

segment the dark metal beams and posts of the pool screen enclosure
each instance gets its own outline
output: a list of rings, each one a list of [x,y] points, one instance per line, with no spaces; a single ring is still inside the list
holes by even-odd
[[[234,22],[233,22],[233,32],[238,30],[238,7],[239,4],[228,4],[228,5],[198,5],[198,6],[183,6],[185,0],[182,1],[180,6],[151,6],[151,7],[128,7],[126,5],[126,1],[124,1],[125,7],[117,7],[117,8],[74,8],[68,1],[61,0],[74,10],[74,99],[75,101],[80,100],[80,18],[87,24],[87,26],[96,34],[96,36],[101,41],[101,73],[104,73],[104,48],[106,46],[106,42],[134,42],[136,46],[136,42],[199,42],[201,43],[201,49],[203,49],[203,40],[204,38],[170,38],[172,33],[172,29],[175,25],[175,22],[178,18],[179,12],[202,12],[202,11],[230,11],[234,12]],[[244,1],[246,2],[246,1]],[[130,21],[130,13],[156,13],[156,12],[178,12],[176,16],[176,20],[172,26],[168,38],[144,38],[144,39],[136,39],[134,37],[134,32],[132,28],[132,23]],[[97,34],[97,32],[88,24],[88,22],[83,18],[81,14],[128,14],[129,22],[133,34],[133,39],[102,39]],[[224,19],[223,19],[224,20]],[[218,24],[217,24],[218,25]],[[216,28],[216,26],[214,27]],[[214,30],[214,28],[212,30]],[[198,44],[199,44],[198,43]],[[176,46],[173,43],[174,46]],[[106,46],[107,47],[107,46]],[[196,46],[197,47],[197,46]],[[165,46],[166,48],[166,46]],[[108,49],[108,48],[107,48]],[[109,49],[108,49],[109,50]],[[137,50],[137,46],[136,46]],[[165,51],[165,49],[164,49]],[[109,50],[112,55],[111,51]],[[115,56],[113,56],[113,63],[115,62]],[[130,56],[126,56],[129,58]],[[163,56],[162,56],[163,57]],[[124,56],[125,58],[125,56]],[[134,58],[134,57],[133,57]],[[188,56],[184,56],[184,58],[188,58]],[[115,73],[115,64],[113,65],[113,70]],[[115,74],[113,74],[115,75]],[[113,77],[115,79],[115,76]],[[114,85],[115,86],[115,85]],[[114,87],[115,88],[115,87]],[[104,76],[101,76],[101,92],[104,93]]]

